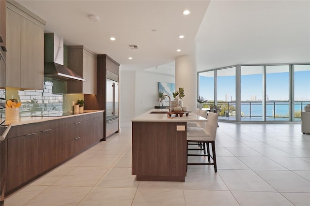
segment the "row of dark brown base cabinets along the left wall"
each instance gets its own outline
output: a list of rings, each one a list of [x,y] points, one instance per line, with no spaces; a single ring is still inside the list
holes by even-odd
[[[98,143],[102,124],[98,112],[11,127],[0,145],[2,191],[11,194]]]

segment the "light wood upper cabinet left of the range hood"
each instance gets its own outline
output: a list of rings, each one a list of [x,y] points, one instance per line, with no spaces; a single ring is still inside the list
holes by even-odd
[[[45,21],[16,1],[6,6],[6,86],[43,89]]]

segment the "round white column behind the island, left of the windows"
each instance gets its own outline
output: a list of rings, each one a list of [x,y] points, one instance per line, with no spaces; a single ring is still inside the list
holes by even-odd
[[[197,108],[197,68],[195,49],[193,55],[183,55],[175,58],[175,90],[184,88],[183,106],[194,111]]]

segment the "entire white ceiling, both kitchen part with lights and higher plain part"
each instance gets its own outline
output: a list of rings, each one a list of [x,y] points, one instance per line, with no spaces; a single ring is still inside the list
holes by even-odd
[[[67,45],[108,54],[121,70],[170,74],[174,59],[188,54],[194,44],[198,71],[310,62],[309,0],[17,1],[47,21],[46,32],[61,35]],[[183,15],[185,9],[191,14]],[[99,21],[90,21],[88,15],[97,15]],[[179,39],[180,34],[185,38]],[[116,41],[111,42],[111,36]],[[129,44],[139,49],[131,50]]]

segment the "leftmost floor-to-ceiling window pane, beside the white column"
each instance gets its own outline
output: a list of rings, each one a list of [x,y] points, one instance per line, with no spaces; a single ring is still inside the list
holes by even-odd
[[[202,72],[198,75],[199,96],[206,100],[202,104],[203,108],[210,108],[215,103],[215,71]]]

